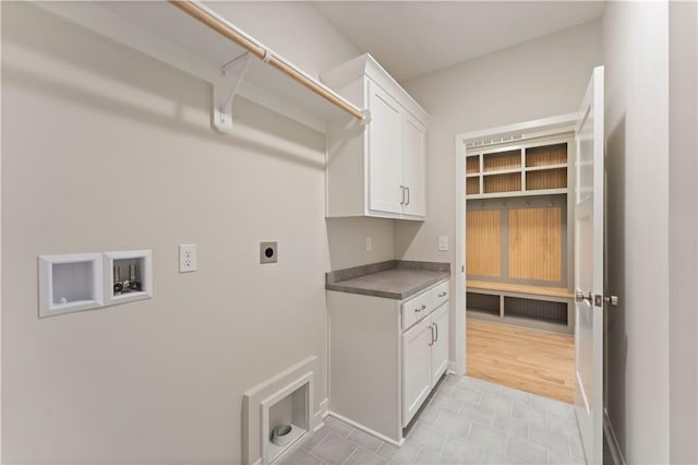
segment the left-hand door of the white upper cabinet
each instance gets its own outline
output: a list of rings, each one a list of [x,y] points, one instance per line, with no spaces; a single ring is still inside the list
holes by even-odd
[[[402,115],[397,102],[369,81],[369,210],[402,213]]]

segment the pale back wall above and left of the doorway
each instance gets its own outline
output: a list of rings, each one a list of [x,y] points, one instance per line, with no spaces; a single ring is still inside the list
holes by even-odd
[[[598,64],[601,26],[597,22],[404,82],[431,115],[428,219],[396,225],[396,257],[456,261],[454,243],[464,238],[455,237],[455,134],[576,111]],[[449,252],[437,251],[440,235],[449,237]],[[450,356],[455,356],[453,344]]]

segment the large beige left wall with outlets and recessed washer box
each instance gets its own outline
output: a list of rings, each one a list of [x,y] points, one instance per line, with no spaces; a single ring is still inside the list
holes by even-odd
[[[311,73],[357,55],[310,5],[231,8]],[[324,272],[392,258],[392,223],[348,257],[365,225],[333,240],[322,134],[244,99],[218,134],[207,84],[2,10],[4,463],[239,462],[242,393],[310,355],[326,366]],[[291,48],[288,21],[322,39]],[[278,264],[257,263],[261,240]],[[178,273],[179,243],[198,245],[196,273]],[[129,249],[153,249],[153,300],[37,319],[38,254]]]

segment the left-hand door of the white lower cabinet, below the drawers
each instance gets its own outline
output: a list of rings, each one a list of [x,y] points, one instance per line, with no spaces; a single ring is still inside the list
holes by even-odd
[[[402,427],[412,419],[432,388],[432,326],[426,318],[402,334]]]

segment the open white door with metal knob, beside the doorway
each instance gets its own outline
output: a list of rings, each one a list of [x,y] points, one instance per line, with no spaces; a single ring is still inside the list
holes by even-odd
[[[587,462],[603,463],[603,67],[593,70],[577,123],[575,349],[577,421]]]

